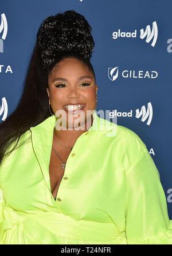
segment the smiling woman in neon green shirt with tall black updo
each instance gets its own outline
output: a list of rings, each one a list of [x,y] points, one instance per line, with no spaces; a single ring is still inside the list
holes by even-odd
[[[0,126],[1,244],[172,244],[146,145],[95,112],[93,47],[73,10],[41,24],[21,101]]]

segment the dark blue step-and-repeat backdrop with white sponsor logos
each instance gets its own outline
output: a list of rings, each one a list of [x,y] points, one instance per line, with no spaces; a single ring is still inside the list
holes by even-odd
[[[41,22],[72,9],[88,20],[95,39],[96,110],[111,111],[142,138],[172,219],[171,0],[1,0],[0,121],[17,107]]]

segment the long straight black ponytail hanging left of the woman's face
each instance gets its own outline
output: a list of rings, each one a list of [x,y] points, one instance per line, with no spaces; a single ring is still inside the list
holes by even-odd
[[[40,49],[36,43],[18,106],[0,125],[0,165],[3,157],[16,148],[25,131],[50,116],[47,86],[47,74],[42,67]],[[14,147],[8,151],[11,144]]]

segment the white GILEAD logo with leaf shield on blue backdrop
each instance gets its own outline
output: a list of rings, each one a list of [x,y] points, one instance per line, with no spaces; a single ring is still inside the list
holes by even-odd
[[[119,67],[108,67],[108,78],[111,81],[115,81],[119,76]],[[121,76],[123,78],[157,78],[158,72],[157,71],[143,71],[143,70],[123,70]]]

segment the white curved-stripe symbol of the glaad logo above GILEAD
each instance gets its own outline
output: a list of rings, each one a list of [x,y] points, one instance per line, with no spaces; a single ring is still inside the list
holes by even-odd
[[[147,25],[145,31],[142,29],[140,29],[140,38],[144,39],[144,37],[146,37],[146,43],[149,43],[151,39],[153,39],[153,42],[151,43],[151,46],[155,46],[155,43],[157,42],[157,37],[158,37],[158,27],[157,27],[157,22],[154,21],[153,22],[153,29],[151,31],[150,25]]]

